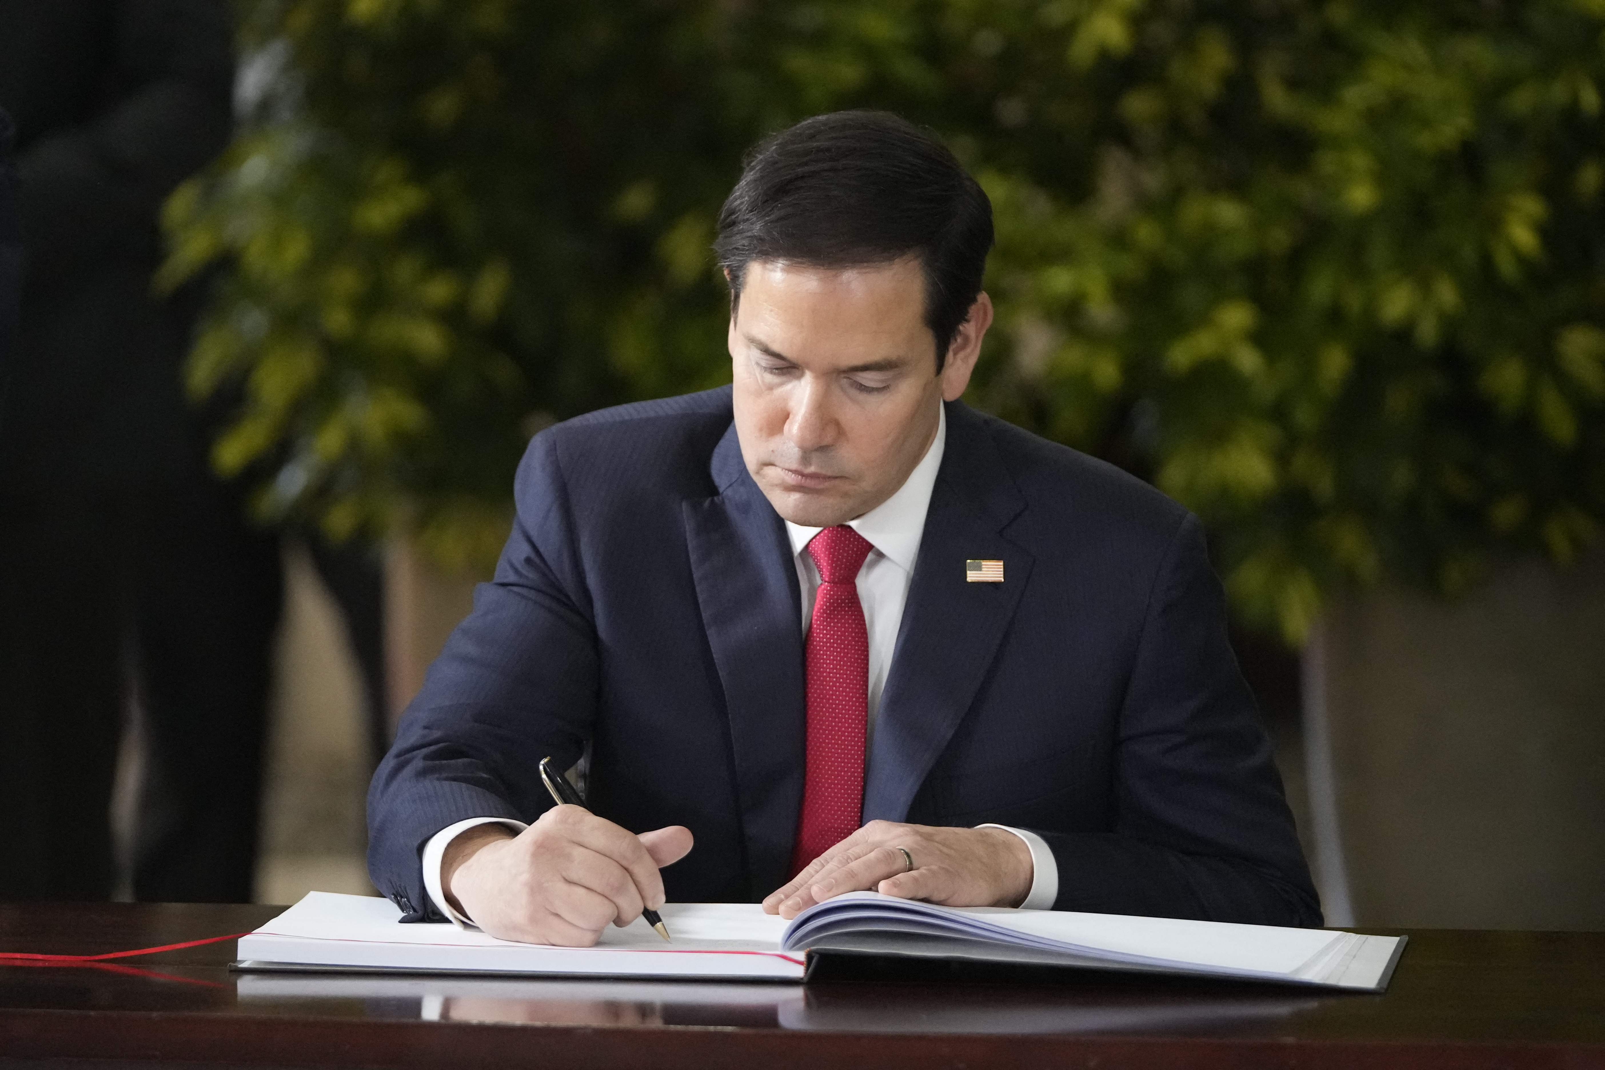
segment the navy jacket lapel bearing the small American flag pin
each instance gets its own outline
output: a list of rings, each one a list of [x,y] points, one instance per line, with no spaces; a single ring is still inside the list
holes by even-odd
[[[931,491],[863,784],[863,820],[902,821],[974,701],[1019,605],[1032,557],[1003,537],[1024,499],[979,415],[947,407]],[[965,561],[1003,561],[1003,582],[966,582]]]

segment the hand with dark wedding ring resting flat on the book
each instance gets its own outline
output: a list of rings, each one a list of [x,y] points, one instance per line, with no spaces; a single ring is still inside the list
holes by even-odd
[[[870,821],[770,892],[764,911],[796,918],[835,895],[872,889],[942,906],[1019,906],[1032,873],[1030,849],[1006,829]]]

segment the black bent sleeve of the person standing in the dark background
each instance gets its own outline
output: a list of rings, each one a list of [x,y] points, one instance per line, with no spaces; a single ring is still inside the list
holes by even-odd
[[[228,143],[233,19],[225,0],[112,5],[114,103],[18,159],[29,278],[156,250],[162,201]]]

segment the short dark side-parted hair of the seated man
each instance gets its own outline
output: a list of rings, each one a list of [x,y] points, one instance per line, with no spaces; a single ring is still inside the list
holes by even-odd
[[[754,260],[860,268],[918,257],[941,371],[981,294],[992,202],[929,132],[884,111],[838,111],[748,154],[713,247],[732,310]]]

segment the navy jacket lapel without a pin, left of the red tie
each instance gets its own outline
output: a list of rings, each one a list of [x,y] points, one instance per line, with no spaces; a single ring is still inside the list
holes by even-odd
[[[684,504],[685,542],[730,717],[756,897],[785,882],[802,805],[802,603],[785,525],[748,475],[733,425],[711,468],[719,494]]]

